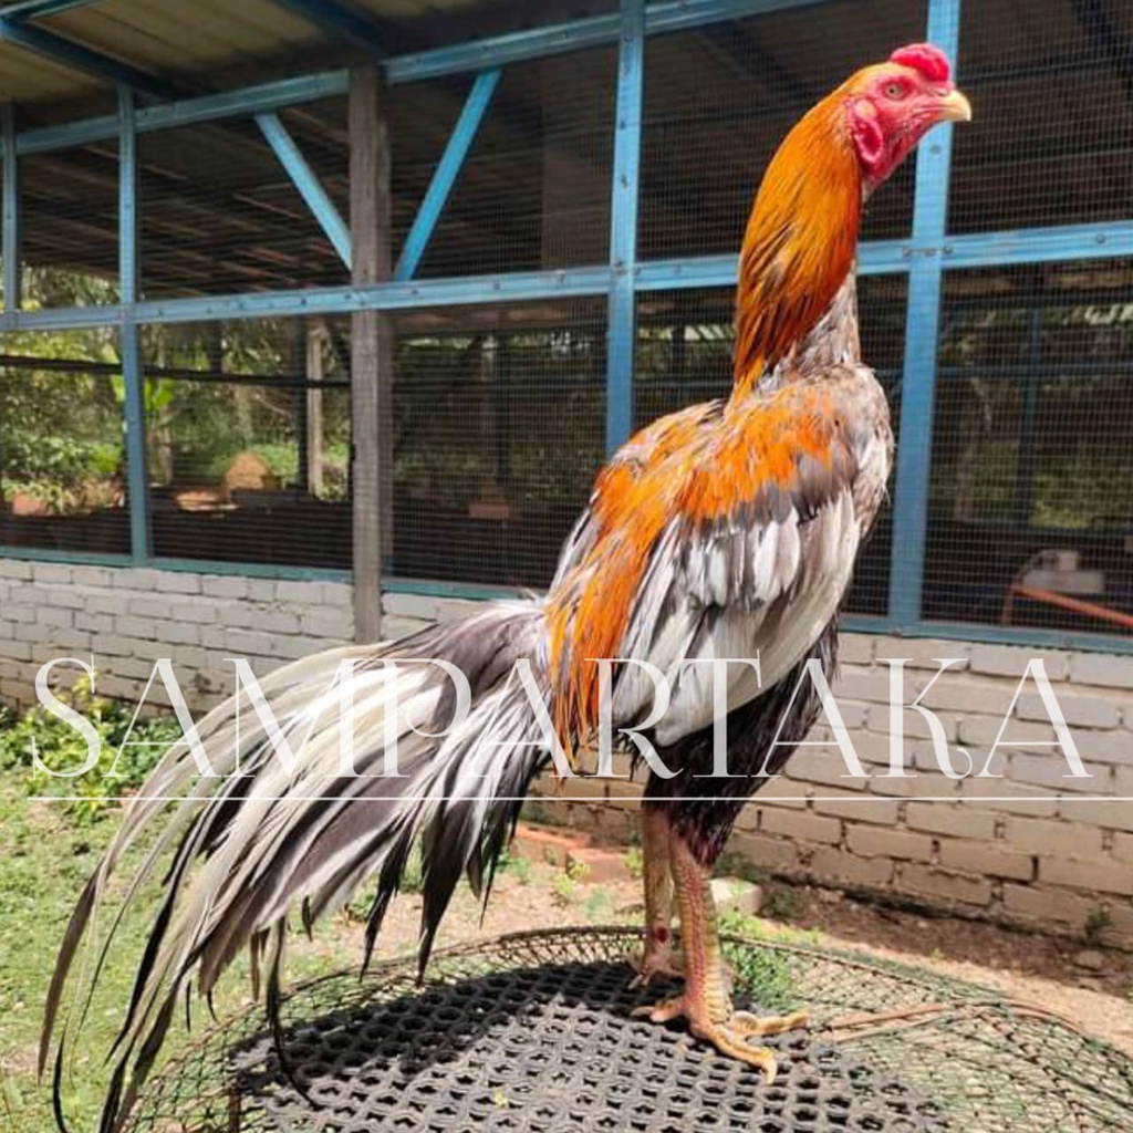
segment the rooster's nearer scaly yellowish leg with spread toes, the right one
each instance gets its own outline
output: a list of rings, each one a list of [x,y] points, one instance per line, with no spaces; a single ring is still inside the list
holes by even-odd
[[[724,980],[709,871],[675,833],[670,840],[670,863],[681,918],[684,994],[636,1014],[647,1015],[655,1023],[683,1016],[698,1039],[710,1042],[723,1055],[758,1066],[769,1085],[777,1072],[775,1055],[748,1040],[806,1026],[807,1014],[795,1012],[781,1019],[759,1019],[733,1008]]]

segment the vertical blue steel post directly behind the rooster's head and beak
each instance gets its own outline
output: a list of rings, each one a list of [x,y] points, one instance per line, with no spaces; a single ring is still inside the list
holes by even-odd
[[[955,62],[960,48],[960,0],[929,0],[928,40]],[[952,125],[948,123],[932,130],[917,152],[889,572],[889,623],[896,630],[912,629],[921,615],[951,162]]]

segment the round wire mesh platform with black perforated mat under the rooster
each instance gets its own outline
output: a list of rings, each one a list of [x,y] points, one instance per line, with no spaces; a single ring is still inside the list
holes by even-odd
[[[287,1073],[262,1016],[212,1031],[155,1079],[135,1133],[746,1131],[1102,1133],[1133,1130],[1133,1063],[1041,1008],[912,969],[730,939],[736,1000],[806,1003],[773,1039],[780,1079],[678,1024],[630,1017],[627,929],[505,937],[330,977],[284,1008]],[[301,1088],[298,1091],[293,1083]],[[306,1094],[306,1097],[304,1096]]]

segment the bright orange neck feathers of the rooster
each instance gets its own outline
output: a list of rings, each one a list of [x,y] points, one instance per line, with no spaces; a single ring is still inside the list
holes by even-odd
[[[807,337],[853,267],[863,182],[845,96],[838,88],[795,126],[756,197],[740,253],[733,398]]]

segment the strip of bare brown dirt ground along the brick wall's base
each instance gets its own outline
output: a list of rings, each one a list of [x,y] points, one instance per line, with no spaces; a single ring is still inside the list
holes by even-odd
[[[819,946],[852,948],[999,989],[1039,1003],[1133,1056],[1133,956],[1127,953],[954,918],[927,920],[809,886],[773,883],[764,894],[764,909],[777,915],[761,919],[768,931],[808,930]],[[632,923],[640,915],[638,881],[564,881],[561,868],[531,862],[522,876],[508,870],[500,877],[483,921],[478,902],[462,892],[438,943],[534,928]],[[381,952],[412,951],[419,917],[419,896],[399,897],[383,929]],[[360,939],[360,926],[355,927]]]

